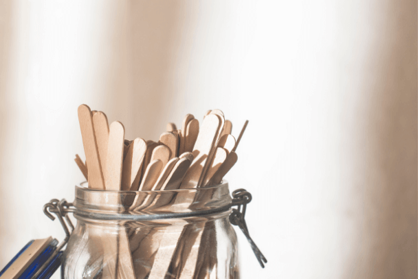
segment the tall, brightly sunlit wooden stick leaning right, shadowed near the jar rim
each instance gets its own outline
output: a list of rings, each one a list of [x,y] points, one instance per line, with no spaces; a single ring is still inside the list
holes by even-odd
[[[219,120],[218,115],[213,114],[207,115],[203,120],[201,131],[197,136],[195,148],[193,150],[195,159],[181,182],[180,188],[197,187],[203,171],[203,166],[205,166],[206,159],[208,159],[208,155],[214,146],[220,123],[221,120]]]

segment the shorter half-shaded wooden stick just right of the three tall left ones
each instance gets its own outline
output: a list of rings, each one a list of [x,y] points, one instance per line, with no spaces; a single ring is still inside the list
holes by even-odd
[[[137,186],[139,187],[139,181],[137,177],[141,177],[142,161],[146,153],[146,142],[144,139],[136,138],[129,146],[129,151],[123,161],[122,167],[122,189],[131,190],[134,189],[135,179],[137,180]]]

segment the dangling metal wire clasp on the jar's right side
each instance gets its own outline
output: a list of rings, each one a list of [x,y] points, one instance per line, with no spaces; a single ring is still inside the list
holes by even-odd
[[[251,245],[252,251],[256,255],[257,260],[259,260],[261,267],[264,268],[264,263],[267,263],[267,259],[250,237],[247,223],[245,223],[245,210],[247,210],[247,203],[250,203],[252,196],[250,192],[247,192],[245,189],[237,189],[232,192],[232,198],[232,206],[236,205],[237,208],[232,208],[230,222],[232,225],[239,226],[241,231],[243,231],[245,237]]]

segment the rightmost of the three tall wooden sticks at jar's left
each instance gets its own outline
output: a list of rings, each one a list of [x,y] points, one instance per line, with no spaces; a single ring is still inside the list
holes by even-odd
[[[110,125],[109,145],[107,148],[107,169],[104,172],[106,190],[120,190],[122,180],[122,159],[125,129],[122,123],[115,121]]]

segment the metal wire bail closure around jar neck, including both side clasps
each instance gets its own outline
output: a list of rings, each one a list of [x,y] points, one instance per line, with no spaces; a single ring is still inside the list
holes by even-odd
[[[220,208],[219,210],[206,210],[203,212],[199,212],[198,214],[193,214],[193,216],[199,216],[199,215],[205,215],[205,214],[213,214],[216,212],[223,212],[226,210],[230,210],[233,206],[236,206],[237,208],[232,208],[232,212],[230,214],[230,222],[232,225],[237,225],[245,237],[247,238],[248,242],[251,245],[252,251],[254,252],[257,260],[259,261],[261,267],[264,268],[264,263],[267,263],[267,259],[265,256],[261,253],[259,247],[254,243],[252,238],[250,237],[250,233],[248,232],[247,223],[245,222],[245,210],[247,210],[247,204],[250,203],[252,200],[252,196],[250,192],[247,192],[245,189],[237,189],[232,192],[232,202],[229,205],[226,205],[223,208]],[[44,264],[43,267],[47,266],[52,258],[58,254],[61,249],[67,244],[69,240],[69,236],[74,230],[74,225],[72,221],[69,219],[68,213],[76,212],[76,208],[74,208],[73,203],[68,203],[65,199],[61,199],[59,201],[58,199],[52,199],[49,203],[45,204],[43,206],[43,212],[46,216],[48,216],[52,221],[55,220],[56,217],[54,217],[53,214],[55,214],[58,217],[58,220],[60,221],[61,225],[63,226],[63,230],[65,232],[65,238],[64,240],[56,247],[56,250],[54,254],[48,259]],[[159,216],[160,215],[160,216]],[[192,214],[184,214],[184,213],[177,213],[177,214],[170,214],[169,216],[166,216],[168,214],[155,214],[152,219],[158,218],[184,218],[188,216],[192,216]],[[131,216],[132,218],[133,216]],[[144,217],[142,217],[144,219]],[[43,267],[40,269],[42,270]],[[33,278],[36,278],[35,276],[38,276],[40,271],[38,271],[36,274],[34,274]]]

